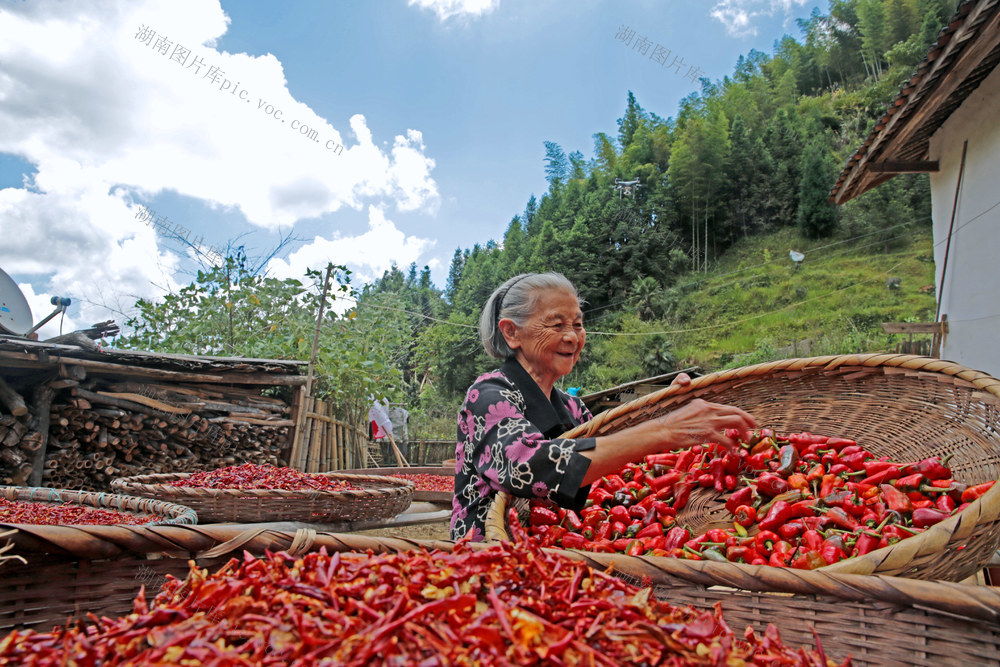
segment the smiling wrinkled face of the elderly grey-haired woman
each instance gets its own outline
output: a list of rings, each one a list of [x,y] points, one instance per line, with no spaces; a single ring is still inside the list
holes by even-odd
[[[507,343],[525,370],[536,381],[541,380],[540,385],[554,384],[569,375],[587,340],[580,302],[566,290],[539,291],[528,321],[520,327],[509,326],[508,330],[513,335],[504,331]]]

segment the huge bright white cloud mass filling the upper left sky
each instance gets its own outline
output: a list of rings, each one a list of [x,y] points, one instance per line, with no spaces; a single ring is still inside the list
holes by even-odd
[[[236,209],[269,229],[373,200],[436,209],[435,163],[419,131],[403,130],[386,148],[360,113],[319,116],[288,89],[274,55],[215,47],[229,23],[218,0],[0,6],[0,153],[37,171],[24,187],[0,190],[0,266],[30,275],[32,298],[69,295],[89,325],[112,316],[102,306],[188,282],[135,219],[136,200],[159,193]],[[150,44],[136,38],[141,26],[156,32]],[[166,54],[157,38],[171,42]],[[171,59],[179,45],[191,51],[186,64]],[[213,67],[224,72],[214,84],[205,76]],[[338,145],[342,154],[328,150]],[[384,256],[408,263],[428,243],[403,238],[399,256],[392,244]]]

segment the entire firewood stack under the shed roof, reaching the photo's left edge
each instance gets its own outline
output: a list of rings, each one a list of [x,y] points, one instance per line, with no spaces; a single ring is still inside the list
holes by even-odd
[[[260,387],[77,374],[16,389],[0,378],[0,484],[108,491],[116,477],[287,465],[291,408]]]

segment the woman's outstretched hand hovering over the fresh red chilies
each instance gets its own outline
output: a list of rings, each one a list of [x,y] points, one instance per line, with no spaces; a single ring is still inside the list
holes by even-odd
[[[710,403],[696,398],[673,412],[658,417],[654,422],[666,431],[664,436],[670,449],[687,449],[706,442],[717,442],[728,450],[739,447],[739,442],[726,435],[727,429],[736,429],[740,439],[749,439],[748,431],[757,422],[748,412],[734,405]]]

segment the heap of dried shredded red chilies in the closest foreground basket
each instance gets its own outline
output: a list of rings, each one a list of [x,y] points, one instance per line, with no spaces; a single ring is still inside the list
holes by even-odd
[[[168,578],[128,616],[12,632],[0,665],[833,664],[818,642],[792,649],[774,626],[740,638],[718,605],[651,591],[531,545],[245,554]]]

